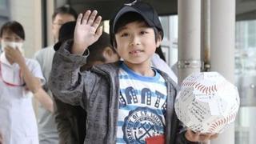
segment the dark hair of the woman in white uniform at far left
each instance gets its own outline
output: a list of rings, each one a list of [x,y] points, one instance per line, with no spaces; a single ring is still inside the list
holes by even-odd
[[[1,30],[0,30],[0,38],[2,38],[2,34],[4,31],[10,30],[14,34],[17,34],[20,38],[25,40],[25,32],[23,29],[23,26],[16,21],[10,21],[6,22],[5,24],[2,25]]]

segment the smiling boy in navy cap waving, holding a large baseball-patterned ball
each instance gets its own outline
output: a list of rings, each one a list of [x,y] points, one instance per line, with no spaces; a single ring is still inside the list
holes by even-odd
[[[110,20],[111,42],[123,62],[79,72],[90,54],[87,47],[102,34],[101,19],[96,10],[79,14],[74,42],[66,42],[54,55],[50,76],[50,88],[59,99],[86,110],[84,143],[176,144],[210,139],[211,134],[180,130],[174,114],[176,85],[150,67],[163,33],[158,14],[148,4],[125,4]]]

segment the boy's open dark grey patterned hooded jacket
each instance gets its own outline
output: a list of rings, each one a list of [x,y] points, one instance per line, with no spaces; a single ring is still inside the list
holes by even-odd
[[[90,71],[80,72],[87,56],[70,54],[72,42],[64,43],[54,55],[50,74],[50,90],[62,102],[82,106],[87,113],[86,144],[116,143],[120,62],[94,66]],[[185,130],[174,112],[177,86],[167,74],[166,79],[166,143],[193,143],[186,141]]]

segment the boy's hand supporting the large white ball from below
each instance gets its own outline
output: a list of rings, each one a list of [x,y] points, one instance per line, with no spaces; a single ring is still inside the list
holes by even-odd
[[[185,137],[190,142],[206,142],[208,140],[214,139],[218,137],[218,134],[202,134],[202,133],[194,133],[192,130],[186,130]]]

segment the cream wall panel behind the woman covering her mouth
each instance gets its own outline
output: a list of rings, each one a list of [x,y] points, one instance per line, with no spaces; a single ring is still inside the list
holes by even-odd
[[[10,20],[18,21],[25,29],[25,55],[33,58],[42,48],[41,0],[10,0]]]

